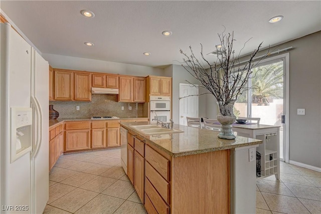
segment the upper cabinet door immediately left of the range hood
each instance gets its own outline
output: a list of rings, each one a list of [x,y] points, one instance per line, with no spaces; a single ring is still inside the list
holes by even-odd
[[[91,101],[90,74],[75,73],[75,99]]]

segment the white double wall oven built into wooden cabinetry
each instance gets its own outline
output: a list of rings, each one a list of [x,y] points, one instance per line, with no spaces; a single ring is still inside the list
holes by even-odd
[[[171,97],[150,96],[150,115],[151,124],[157,123],[152,119],[158,119],[163,122],[170,122],[171,119]]]

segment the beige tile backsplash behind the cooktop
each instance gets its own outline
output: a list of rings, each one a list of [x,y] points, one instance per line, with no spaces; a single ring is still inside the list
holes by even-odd
[[[93,94],[91,102],[49,101],[49,104],[54,105],[54,109],[59,112],[59,119],[92,116],[148,117],[148,103],[120,103],[117,102],[117,95]],[[76,106],[79,106],[79,111]],[[121,110],[122,106],[124,110]]]

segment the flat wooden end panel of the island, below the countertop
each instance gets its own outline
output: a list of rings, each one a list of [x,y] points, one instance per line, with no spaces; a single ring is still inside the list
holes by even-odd
[[[172,161],[172,213],[230,213],[230,150]]]

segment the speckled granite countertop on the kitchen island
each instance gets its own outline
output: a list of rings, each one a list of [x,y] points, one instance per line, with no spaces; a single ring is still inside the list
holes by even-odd
[[[173,157],[233,149],[262,143],[262,140],[241,136],[236,136],[234,140],[220,139],[217,137],[219,133],[217,131],[178,124],[174,124],[174,128],[182,129],[184,133],[142,135],[130,126],[146,125],[149,124],[149,122],[121,122],[120,124]]]

